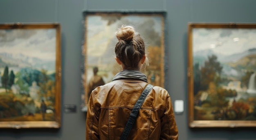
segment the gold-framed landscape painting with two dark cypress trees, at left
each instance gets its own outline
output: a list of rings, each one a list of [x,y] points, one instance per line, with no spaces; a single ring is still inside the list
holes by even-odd
[[[0,128],[61,127],[60,24],[0,24]]]

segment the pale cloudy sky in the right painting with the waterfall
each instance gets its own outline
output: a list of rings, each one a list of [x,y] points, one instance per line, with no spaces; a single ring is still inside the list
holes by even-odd
[[[193,29],[193,53],[212,49],[232,55],[256,48],[256,29]]]

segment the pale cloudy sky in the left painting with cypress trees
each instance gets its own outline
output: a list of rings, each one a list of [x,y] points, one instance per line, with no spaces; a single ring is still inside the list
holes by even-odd
[[[0,30],[0,52],[56,60],[55,29]]]

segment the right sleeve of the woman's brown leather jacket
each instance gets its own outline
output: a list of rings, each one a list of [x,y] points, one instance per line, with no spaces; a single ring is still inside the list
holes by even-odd
[[[169,93],[166,91],[165,111],[161,118],[160,140],[178,140],[178,129]]]

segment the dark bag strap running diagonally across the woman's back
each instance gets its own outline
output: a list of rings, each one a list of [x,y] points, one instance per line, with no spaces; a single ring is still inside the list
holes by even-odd
[[[151,91],[151,89],[153,87],[154,87],[153,85],[148,84],[146,86],[146,88],[142,91],[141,95],[139,96],[139,99],[137,100],[137,102],[135,103],[135,105],[132,109],[132,112],[130,113],[130,117],[128,119],[128,122],[126,123],[126,126],[124,128],[124,131],[121,135],[120,140],[126,140],[127,139],[127,136],[130,133],[130,130],[132,129],[132,125],[133,125],[135,119],[137,118],[137,114],[139,112],[139,109],[140,109],[142,103],[144,102],[144,100],[146,99],[146,97],[148,96],[149,91]]]

